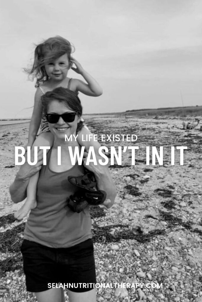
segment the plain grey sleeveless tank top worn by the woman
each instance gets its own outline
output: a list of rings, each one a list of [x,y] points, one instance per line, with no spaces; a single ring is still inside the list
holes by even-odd
[[[73,212],[67,199],[79,189],[68,181],[69,175],[82,175],[84,168],[78,162],[68,171],[53,172],[42,165],[37,184],[37,207],[31,210],[25,225],[24,238],[44,246],[66,248],[81,243],[91,234],[91,218],[87,207],[81,213]]]

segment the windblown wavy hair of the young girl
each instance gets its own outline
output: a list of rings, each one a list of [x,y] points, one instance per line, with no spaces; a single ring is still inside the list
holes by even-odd
[[[70,56],[74,51],[74,46],[68,40],[60,36],[48,38],[36,46],[33,66],[30,69],[24,68],[24,71],[31,76],[32,80],[36,78],[35,87],[39,87],[40,83],[49,79],[44,65],[67,53],[68,68],[70,68]]]

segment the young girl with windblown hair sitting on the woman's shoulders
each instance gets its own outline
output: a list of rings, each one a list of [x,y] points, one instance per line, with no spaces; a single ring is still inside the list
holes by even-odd
[[[33,79],[36,78],[35,87],[37,87],[27,146],[51,147],[53,145],[53,135],[49,131],[48,122],[43,114],[41,104],[41,96],[43,94],[57,87],[68,88],[76,94],[79,91],[89,96],[99,96],[102,94],[100,85],[82,68],[77,60],[71,57],[71,53],[72,47],[70,42],[60,36],[49,38],[35,48],[32,69],[30,71],[26,69],[33,76]],[[72,67],[73,64],[75,64],[76,68]],[[67,73],[70,68],[81,74],[87,83],[79,79],[68,78]],[[40,124],[42,133],[35,140]],[[59,129],[58,131],[63,131],[63,129]],[[93,146],[96,151],[99,148],[98,142],[92,140],[89,142],[82,141],[82,135],[86,137],[90,133],[88,128],[84,126],[78,133],[77,140],[87,151],[90,146]],[[39,173],[30,179],[25,204],[15,212],[15,218],[19,220],[25,217],[29,210],[35,208],[37,205],[36,188],[38,176]]]

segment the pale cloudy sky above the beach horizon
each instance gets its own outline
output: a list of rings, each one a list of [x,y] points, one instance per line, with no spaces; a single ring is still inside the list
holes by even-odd
[[[35,82],[23,67],[35,44],[60,35],[103,88],[79,94],[84,113],[201,105],[202,1],[7,0],[1,2],[0,118],[30,117]],[[73,70],[69,77],[82,79]],[[25,109],[29,108],[29,109]]]

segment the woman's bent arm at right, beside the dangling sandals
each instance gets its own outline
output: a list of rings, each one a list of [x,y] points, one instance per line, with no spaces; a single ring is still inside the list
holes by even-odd
[[[112,207],[112,205],[114,204],[115,201],[115,197],[116,197],[116,188],[114,185],[114,182],[111,178],[111,175],[109,173],[109,169],[107,165],[100,165],[98,160],[99,159],[103,159],[100,155],[96,154],[96,159],[97,159],[97,163],[98,165],[94,165],[93,162],[89,162],[89,165],[86,165],[86,159],[88,156],[87,152],[84,152],[84,166],[92,171],[95,175],[95,178],[97,180],[97,187],[99,190],[103,190],[107,193],[107,197],[106,200],[104,201],[104,205],[107,208]]]

